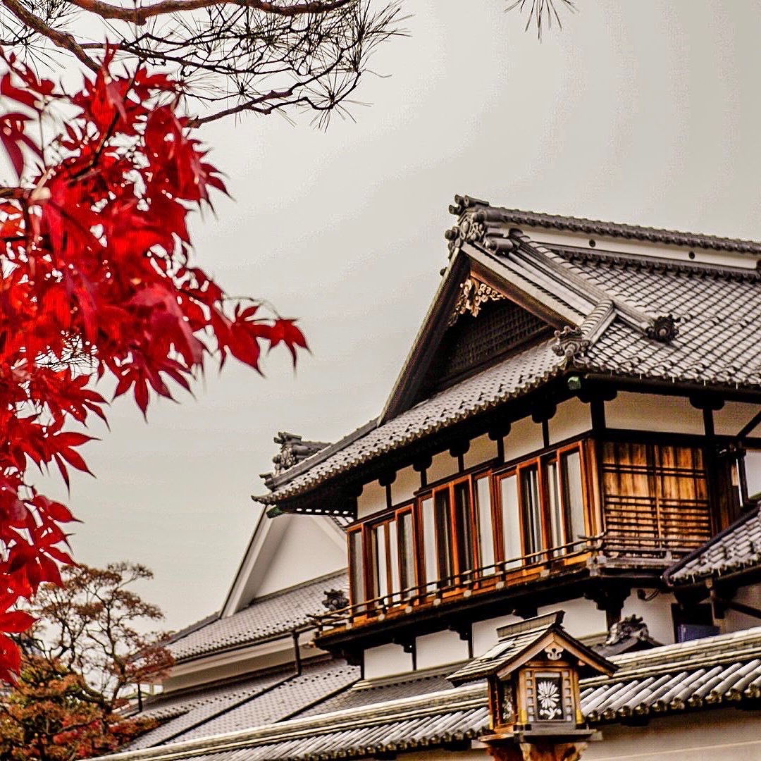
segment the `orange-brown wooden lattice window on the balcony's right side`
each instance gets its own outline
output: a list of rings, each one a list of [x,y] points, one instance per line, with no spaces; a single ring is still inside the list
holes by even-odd
[[[686,552],[711,537],[699,447],[609,441],[602,470],[611,549]]]

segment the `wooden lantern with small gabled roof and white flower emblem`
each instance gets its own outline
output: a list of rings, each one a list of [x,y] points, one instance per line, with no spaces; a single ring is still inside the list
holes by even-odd
[[[486,678],[489,727],[481,737],[501,761],[572,761],[593,730],[581,715],[579,679],[616,666],[562,628],[562,610],[498,629],[499,642],[451,674],[462,684]]]

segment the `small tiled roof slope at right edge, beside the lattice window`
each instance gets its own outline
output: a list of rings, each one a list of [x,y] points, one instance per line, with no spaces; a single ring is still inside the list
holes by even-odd
[[[664,573],[669,584],[688,584],[761,566],[761,512],[755,508]]]

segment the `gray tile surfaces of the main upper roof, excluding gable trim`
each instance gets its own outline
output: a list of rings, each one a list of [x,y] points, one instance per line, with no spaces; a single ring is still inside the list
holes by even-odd
[[[282,480],[281,476],[275,491],[259,497],[261,501],[274,504],[301,495],[441,428],[521,396],[569,366],[623,377],[731,388],[761,387],[761,323],[756,317],[761,303],[761,275],[756,269],[602,251],[550,250],[533,244],[524,234],[511,232],[510,226],[546,223],[549,227],[560,225],[562,229],[584,231],[604,228],[614,237],[754,255],[761,254],[761,244],[507,209],[489,208],[489,215],[498,219],[492,224],[489,218],[492,236],[500,240],[514,238],[509,256],[492,253],[489,266],[508,280],[520,272],[522,279],[532,279],[537,291],[563,294],[568,304],[571,293],[590,303],[589,313],[581,315],[579,322],[591,345],[566,358],[556,355],[552,351],[554,342],[549,341],[506,358],[383,425],[365,426],[345,441],[304,460],[292,476],[286,471],[287,478]],[[521,219],[525,221],[521,223]],[[467,246],[485,253],[487,244],[489,240],[470,240]],[[604,317],[611,304],[613,320],[603,320],[602,330],[596,330],[597,321],[591,317],[598,313]],[[669,342],[649,338],[648,325],[656,317],[669,314],[678,320],[678,335]]]

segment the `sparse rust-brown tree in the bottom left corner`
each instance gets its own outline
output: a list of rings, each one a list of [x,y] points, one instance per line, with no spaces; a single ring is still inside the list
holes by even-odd
[[[163,618],[130,588],[152,576],[127,562],[69,566],[61,587],[40,587],[38,620],[19,638],[21,675],[0,697],[0,758],[88,758],[154,726],[125,712],[128,696],[172,664],[163,635],[139,629]]]

